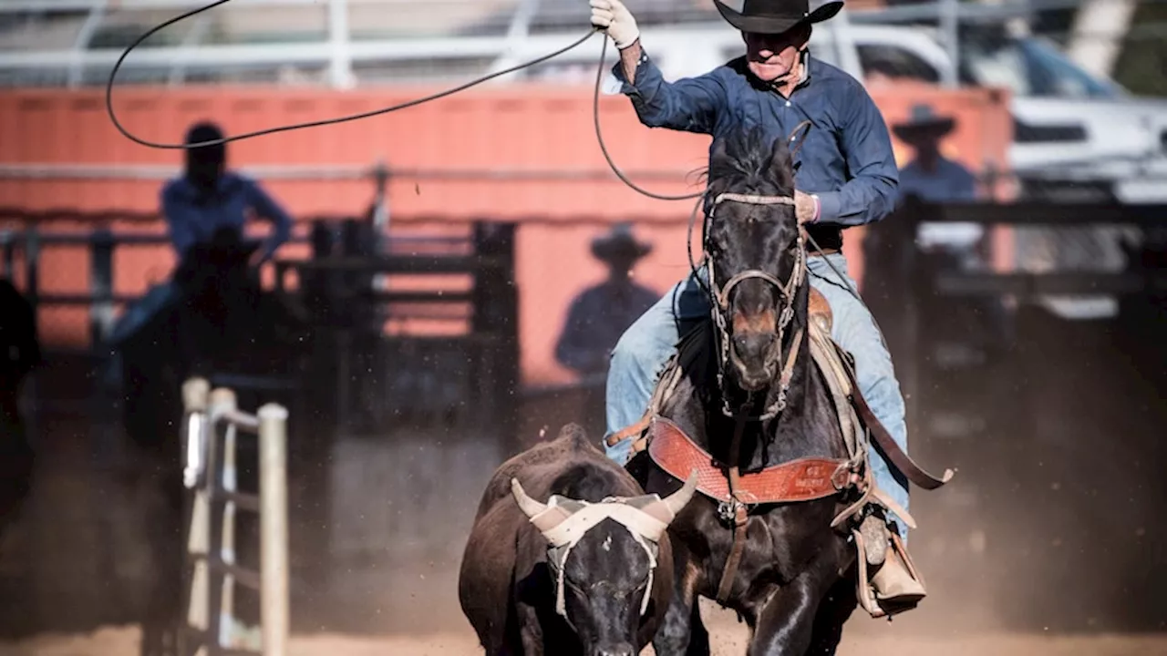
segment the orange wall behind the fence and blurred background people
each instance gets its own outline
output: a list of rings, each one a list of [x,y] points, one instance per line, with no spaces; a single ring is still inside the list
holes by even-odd
[[[236,88],[121,89],[114,106],[120,123],[140,138],[181,140],[194,120],[215,118],[232,134],[286,123],[317,120],[415,98],[432,90],[333,92]],[[889,120],[927,100],[956,114],[948,147],[973,170],[1004,166],[1012,139],[1007,97],[997,91],[942,91],[922,86],[873,88]],[[601,97],[608,149],[624,170],[676,172],[677,182],[642,181],[649,189],[694,190],[685,174],[705,166],[708,137],[641,126],[623,97]],[[137,145],[119,134],[104,112],[100,91],[22,90],[0,93],[0,163],[170,165],[180,153]],[[901,147],[896,144],[897,154]],[[260,137],[229,146],[231,163],[371,165],[384,158],[401,169],[607,170],[592,126],[591,89],[497,86],[361,121]],[[691,179],[690,179],[691,180]],[[272,181],[272,194],[294,215],[359,215],[372,198],[368,181]],[[27,209],[154,211],[156,181],[0,181],[0,205]],[[462,222],[497,218],[523,222],[518,237],[522,368],[529,383],[569,379],[552,350],[567,305],[603,275],[588,252],[589,239],[608,223],[633,218],[638,235],[655,243],[636,270],[638,279],[664,291],[687,270],[685,222],[691,201],[647,198],[620,181],[426,181],[396,177],[390,184],[393,221],[410,229],[421,216]],[[428,223],[428,222],[427,222]],[[861,229],[847,232],[852,268],[861,275]],[[79,292],[88,257],[47,252],[42,286]],[[141,291],[146,277],[166,275],[169,257],[158,249],[126,252],[116,266],[119,291]],[[48,339],[84,340],[84,310],[42,315]]]

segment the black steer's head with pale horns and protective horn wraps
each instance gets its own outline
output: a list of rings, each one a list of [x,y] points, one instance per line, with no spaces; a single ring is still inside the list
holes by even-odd
[[[693,497],[696,474],[661,498],[644,495],[587,503],[552,495],[540,503],[511,479],[519,508],[547,539],[555,609],[587,656],[634,656],[648,610],[665,529]]]

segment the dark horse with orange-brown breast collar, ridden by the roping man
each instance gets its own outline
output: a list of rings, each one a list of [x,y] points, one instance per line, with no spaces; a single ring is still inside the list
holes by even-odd
[[[736,480],[720,480],[729,490],[785,467],[771,491],[787,501],[718,501],[710,493],[719,481],[703,479],[703,494],[669,529],[676,588],[654,641],[661,656],[708,654],[698,595],[720,598],[745,619],[750,655],[833,654],[857,605],[855,547],[832,528],[854,502],[853,468],[843,466],[852,454],[810,353],[811,289],[794,194],[782,139],[771,145],[754,132],[714,144],[705,228],[713,321],[682,339],[680,372],[648,430],[648,451],[629,469],[648,493],[664,495],[682,484],[661,466],[670,459],[712,456],[736,468]]]

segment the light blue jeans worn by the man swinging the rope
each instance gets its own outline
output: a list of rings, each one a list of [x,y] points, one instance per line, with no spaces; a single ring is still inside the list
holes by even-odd
[[[846,277],[846,282],[839,280],[826,259]],[[846,258],[839,253],[816,256],[808,258],[806,265],[811,286],[822,292],[831,306],[831,336],[855,358],[855,378],[864,398],[896,444],[907,452],[903,396],[895,379],[892,355],[871,310],[847,291],[847,284],[853,289],[858,289],[858,285],[847,275]],[[692,322],[708,316],[708,298],[690,274],[624,332],[612,351],[608,370],[609,435],[644,414],[661,370],[675,353],[680,334]],[[628,462],[631,440],[605,448],[608,458],[623,465]],[[871,449],[871,467],[875,484],[909,510],[907,479],[900,472],[893,472],[874,446]],[[897,524],[906,537],[907,526],[902,522]]]

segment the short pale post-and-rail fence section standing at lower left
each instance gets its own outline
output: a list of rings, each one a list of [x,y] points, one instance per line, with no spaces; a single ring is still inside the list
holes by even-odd
[[[287,410],[266,404],[256,414],[236,407],[235,392],[210,391],[203,378],[183,384],[183,483],[189,524],[184,592],[189,593],[180,652],[286,656],[288,612]],[[222,431],[221,431],[222,430]],[[259,495],[237,487],[239,432],[259,438]],[[221,439],[222,438],[222,439]],[[236,563],[235,514],[259,514],[259,571]],[[216,522],[216,517],[219,521]],[[259,592],[259,648],[232,644],[236,584]],[[218,594],[215,594],[216,591]]]

